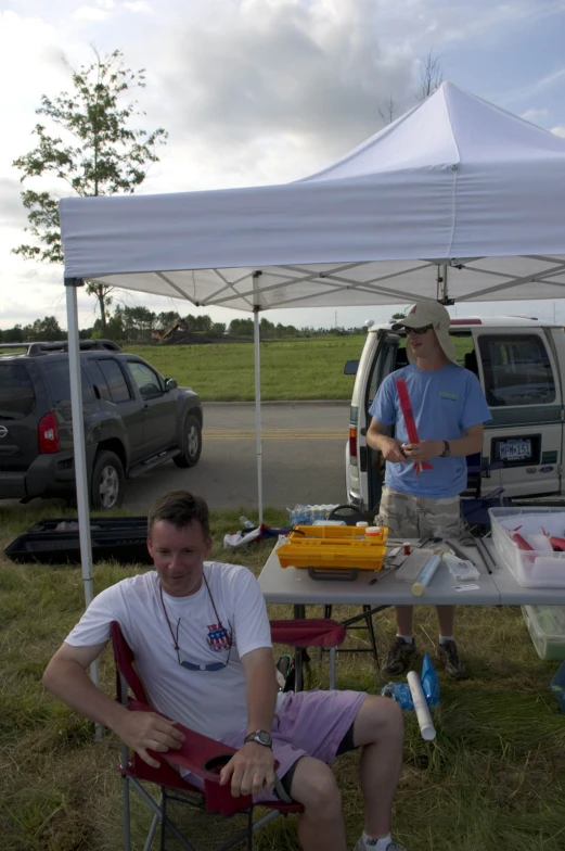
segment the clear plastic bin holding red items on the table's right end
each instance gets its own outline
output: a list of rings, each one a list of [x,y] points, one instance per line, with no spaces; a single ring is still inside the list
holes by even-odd
[[[565,588],[565,552],[519,549],[513,530],[527,539],[543,534],[565,537],[562,508],[489,508],[492,543],[514,579],[525,588]],[[542,529],[543,528],[543,529]]]

